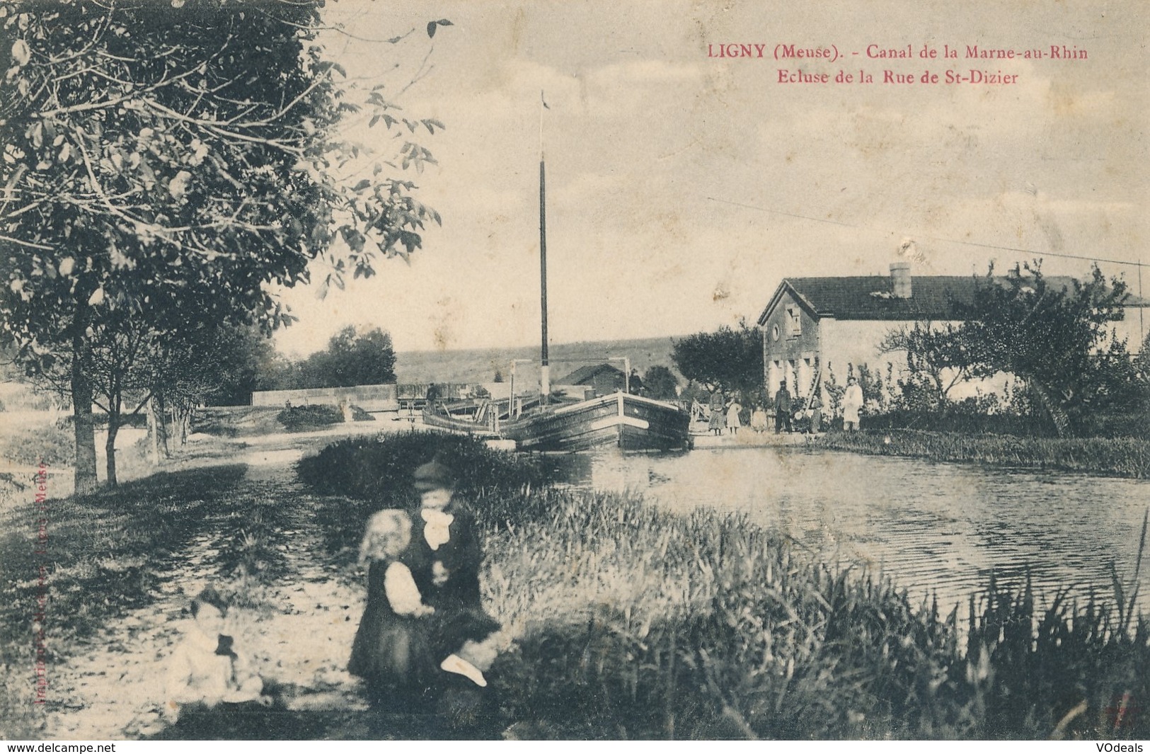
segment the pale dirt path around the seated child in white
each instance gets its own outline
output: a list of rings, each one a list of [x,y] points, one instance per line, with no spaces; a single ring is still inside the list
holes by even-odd
[[[237,641],[243,637],[266,681],[285,690],[284,708],[313,717],[313,736],[367,737],[367,722],[356,719],[366,706],[344,670],[362,612],[362,580],[340,572],[314,533],[309,494],[291,467],[301,452],[269,447],[239,458],[248,463],[247,472],[230,495],[258,501],[256,516],[275,532],[267,544],[277,557],[263,557],[273,561],[264,572],[235,568],[229,549],[243,546],[243,527],[251,521],[235,520],[227,504],[217,507],[191,544],[168,561],[151,604],[103,627],[54,669],[53,696],[60,705],[49,716],[48,737],[161,732],[164,660],[187,627],[189,597],[208,582],[238,597],[243,607],[232,609],[228,631]]]

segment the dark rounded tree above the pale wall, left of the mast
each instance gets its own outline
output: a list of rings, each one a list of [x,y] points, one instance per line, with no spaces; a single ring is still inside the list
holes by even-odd
[[[378,327],[358,335],[354,327],[336,333],[328,348],[302,364],[304,387],[347,388],[396,381],[391,336]]]

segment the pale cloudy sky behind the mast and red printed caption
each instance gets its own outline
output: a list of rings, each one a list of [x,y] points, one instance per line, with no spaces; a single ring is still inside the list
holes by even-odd
[[[422,139],[437,165],[411,176],[443,226],[409,264],[322,300],[284,291],[299,322],[277,346],[306,355],[346,325],[400,351],[538,343],[540,91],[553,343],[753,321],[783,277],[895,261],[948,275],[1036,257],[1089,272],[1055,254],[1150,262],[1144,5],[329,2],[345,31],[323,41],[350,79],[445,124]],[[452,25],[429,39],[438,18]],[[729,44],[764,56],[718,56]],[[777,45],[838,59],[776,60]],[[867,52],[907,45],[910,60]],[[969,59],[968,45],[1045,56]],[[830,81],[780,83],[781,69]],[[972,69],[1013,83],[919,81]],[[875,81],[834,83],[860,70]],[[361,122],[348,136],[396,147]],[[1137,267],[1102,268],[1137,292]]]

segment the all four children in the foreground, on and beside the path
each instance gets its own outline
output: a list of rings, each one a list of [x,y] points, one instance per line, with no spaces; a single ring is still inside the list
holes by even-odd
[[[367,604],[347,670],[376,709],[438,715],[452,728],[491,717],[488,678],[499,623],[480,601],[482,550],[471,513],[455,500],[454,478],[432,460],[415,470],[420,508],[381,510],[359,550]],[[221,710],[259,711],[273,699],[235,632],[228,603],[212,587],[191,601],[192,627],[168,658],[164,715],[183,723]],[[218,717],[218,715],[215,715]]]

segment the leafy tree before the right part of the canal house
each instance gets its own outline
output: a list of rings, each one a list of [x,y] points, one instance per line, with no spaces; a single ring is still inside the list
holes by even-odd
[[[991,266],[973,303],[957,305],[964,320],[957,338],[972,374],[1023,380],[1064,436],[1136,389],[1126,343],[1111,327],[1127,297],[1126,283],[1106,281],[1098,267],[1086,282],[1055,289],[1041,260],[1015,266],[1005,279]]]

